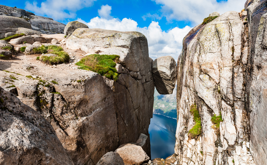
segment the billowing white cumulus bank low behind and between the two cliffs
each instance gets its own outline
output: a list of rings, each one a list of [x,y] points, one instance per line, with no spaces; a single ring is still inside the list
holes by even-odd
[[[168,32],[161,29],[158,22],[152,21],[148,27],[138,27],[136,21],[128,18],[119,20],[118,18],[106,19],[94,17],[90,22],[85,22],[78,18],[79,22],[88,25],[89,28],[108,29],[117,31],[138,31],[147,37],[149,56],[156,59],[160,56],[172,56],[178,59],[182,49],[184,36],[192,29],[185,26],[180,29],[175,27]]]

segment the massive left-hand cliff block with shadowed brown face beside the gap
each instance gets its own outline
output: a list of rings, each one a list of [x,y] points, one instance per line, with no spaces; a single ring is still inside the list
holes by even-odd
[[[0,71],[0,86],[12,90],[50,122],[76,165],[96,164],[107,152],[136,142],[141,133],[147,137],[142,136],[146,142],[141,140],[140,145],[150,155],[148,127],[153,113],[154,81],[147,40],[137,32],[115,35],[114,31],[97,31],[114,35],[106,38],[111,46],[116,41],[127,47],[112,46],[103,52],[121,56],[122,68],[116,82],[90,71],[25,64],[25,60],[0,62],[1,69],[8,70]],[[83,45],[84,40],[75,38],[77,45]],[[106,47],[107,42],[91,40],[90,44],[98,49]]]

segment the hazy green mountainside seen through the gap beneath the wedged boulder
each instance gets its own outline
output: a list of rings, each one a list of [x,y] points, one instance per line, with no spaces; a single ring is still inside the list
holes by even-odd
[[[177,118],[177,101],[176,101],[177,85],[173,90],[173,94],[159,94],[155,88],[153,113],[160,114],[171,118]]]

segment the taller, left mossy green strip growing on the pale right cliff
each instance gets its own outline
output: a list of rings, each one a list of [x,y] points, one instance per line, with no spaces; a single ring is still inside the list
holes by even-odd
[[[201,134],[201,119],[197,110],[196,103],[191,106],[190,112],[193,114],[193,119],[196,123],[193,128],[189,130],[189,135],[193,139]]]

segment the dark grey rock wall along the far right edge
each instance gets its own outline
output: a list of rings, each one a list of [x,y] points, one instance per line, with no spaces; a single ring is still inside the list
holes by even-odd
[[[267,83],[266,83],[266,14],[267,1],[247,1],[249,57],[247,60],[246,105],[250,112],[250,152],[257,164],[267,165]]]

